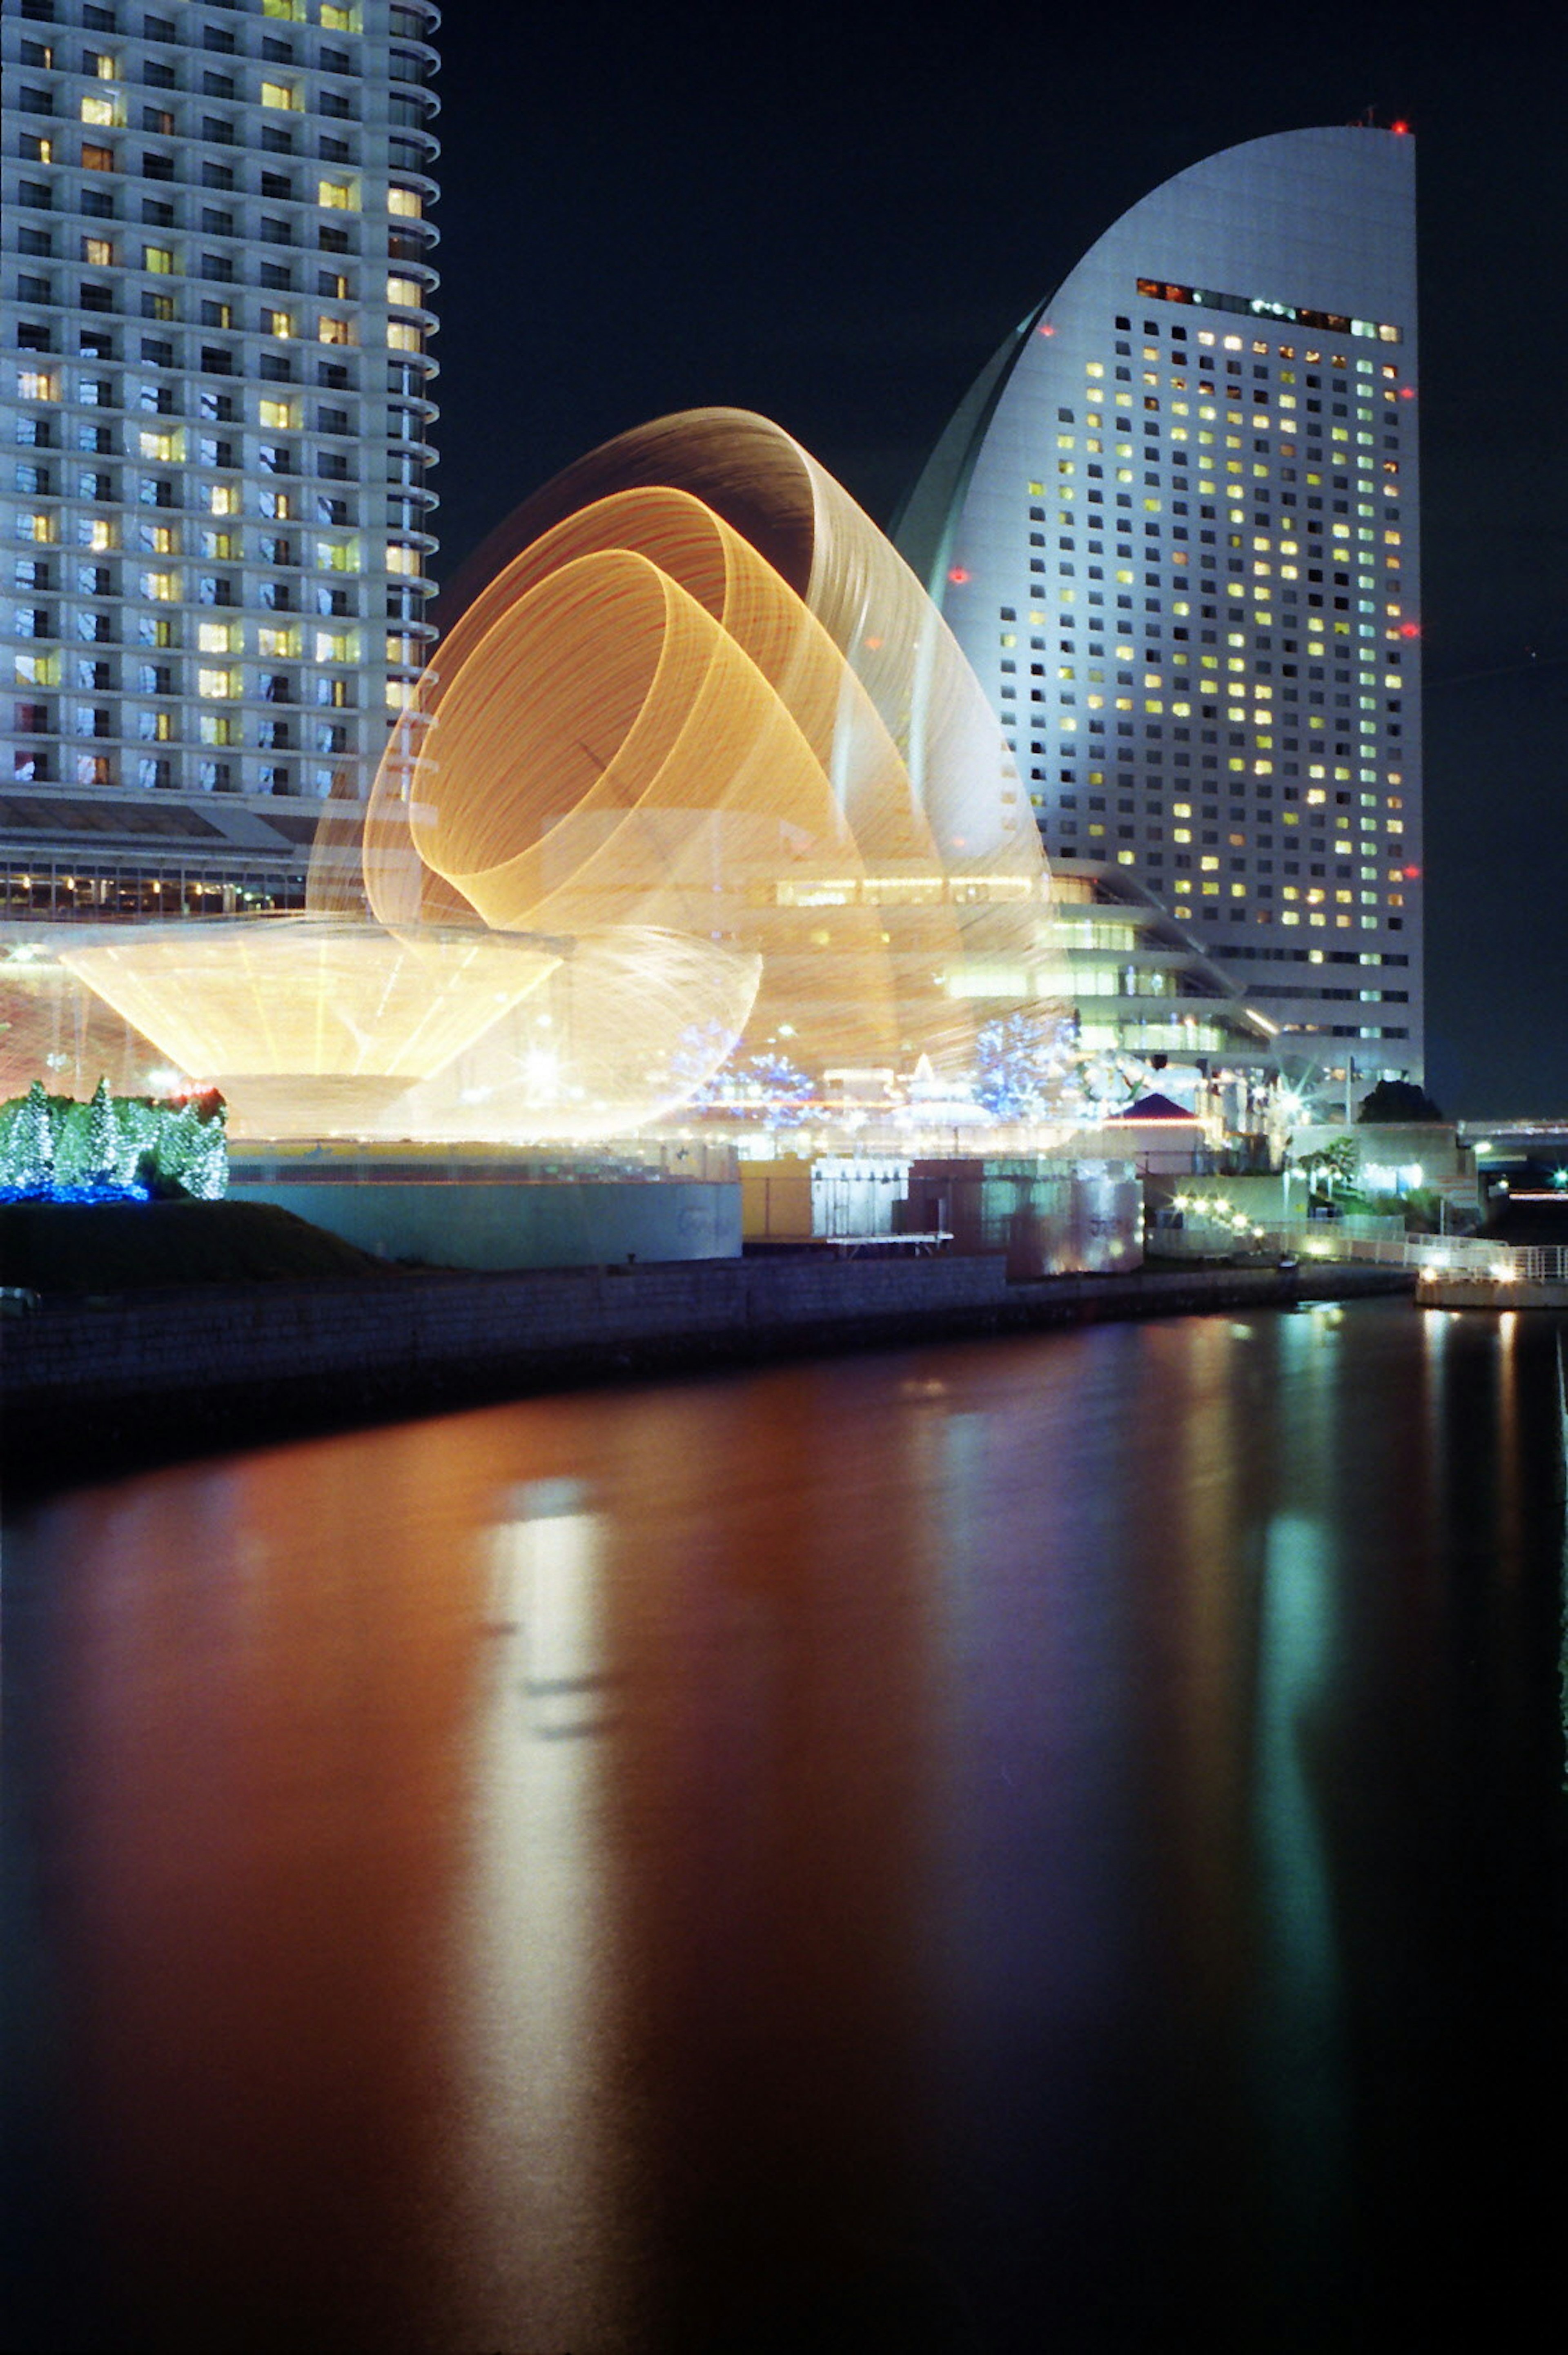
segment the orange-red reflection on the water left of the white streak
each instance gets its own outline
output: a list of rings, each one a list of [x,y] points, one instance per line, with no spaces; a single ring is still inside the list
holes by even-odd
[[[320,2346],[348,2310],[356,2334],[407,2327],[440,2164],[476,1470],[454,1434],[403,1432],[54,1512],[75,2127],[122,2320],[158,2346]]]

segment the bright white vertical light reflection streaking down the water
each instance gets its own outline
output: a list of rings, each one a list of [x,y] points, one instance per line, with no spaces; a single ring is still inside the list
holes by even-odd
[[[487,1531],[492,1648],[476,1693],[471,1884],[454,1964],[454,2157],[473,2343],[624,2346],[607,1879],[603,1517],[572,1477],[518,1484]]]

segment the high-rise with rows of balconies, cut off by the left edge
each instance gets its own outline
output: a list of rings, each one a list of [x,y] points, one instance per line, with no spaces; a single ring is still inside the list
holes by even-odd
[[[7,0],[0,907],[290,907],[431,636],[426,0]]]

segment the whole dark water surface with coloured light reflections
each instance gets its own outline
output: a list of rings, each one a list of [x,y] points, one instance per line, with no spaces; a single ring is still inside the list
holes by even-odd
[[[1556,1352],[1102,1326],[19,1510],[5,2346],[1552,2343]]]

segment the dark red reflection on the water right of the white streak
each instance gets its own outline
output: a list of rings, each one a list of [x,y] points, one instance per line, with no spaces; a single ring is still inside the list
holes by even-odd
[[[812,2280],[850,2329],[895,2329],[932,2296],[911,2218],[939,1422],[857,1368],[709,1392],[702,1455],[687,1415],[650,1399],[614,1467],[638,1500],[614,1846],[664,2343],[753,2343],[817,2313]]]

